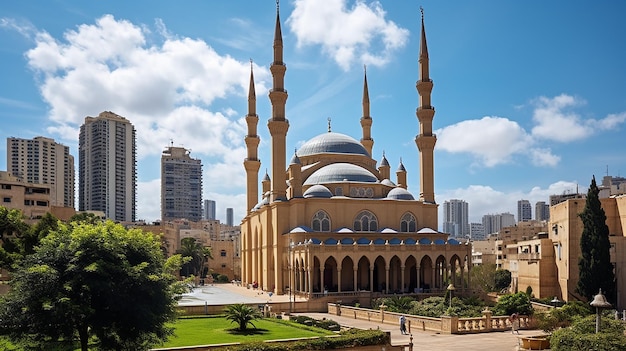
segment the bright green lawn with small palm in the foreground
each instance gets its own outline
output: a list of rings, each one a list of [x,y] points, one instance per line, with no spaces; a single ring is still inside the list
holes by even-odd
[[[256,329],[249,326],[246,332],[236,330],[237,325],[223,317],[181,318],[175,324],[175,335],[163,346],[177,347],[250,342],[262,340],[303,338],[334,334],[331,331],[308,327],[279,319],[254,321]]]

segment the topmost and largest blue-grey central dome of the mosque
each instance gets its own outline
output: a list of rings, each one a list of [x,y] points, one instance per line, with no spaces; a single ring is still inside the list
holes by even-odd
[[[358,154],[370,156],[367,150],[354,138],[345,134],[328,132],[307,141],[298,150],[298,156],[323,153]]]

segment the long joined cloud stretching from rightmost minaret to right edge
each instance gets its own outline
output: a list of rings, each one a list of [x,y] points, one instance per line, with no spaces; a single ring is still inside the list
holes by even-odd
[[[534,166],[555,167],[561,161],[545,144],[588,138],[610,131],[626,122],[626,112],[602,119],[583,119],[574,108],[585,101],[567,94],[539,97],[531,102],[534,126],[527,132],[505,117],[465,120],[436,131],[438,150],[473,155],[477,164],[494,167],[526,157]],[[521,109],[516,107],[516,109]]]

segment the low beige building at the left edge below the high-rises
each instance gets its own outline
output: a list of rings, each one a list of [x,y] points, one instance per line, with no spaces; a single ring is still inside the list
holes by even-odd
[[[22,211],[27,220],[39,219],[50,212],[50,185],[26,183],[0,171],[0,199],[0,205]]]

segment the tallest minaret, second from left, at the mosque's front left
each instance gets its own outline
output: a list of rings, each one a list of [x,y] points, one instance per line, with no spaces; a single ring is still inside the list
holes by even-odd
[[[287,199],[286,143],[289,121],[285,118],[287,90],[285,90],[285,71],[283,62],[283,35],[280,30],[280,7],[276,1],[276,29],[274,31],[274,62],[270,66],[273,83],[269,97],[272,104],[272,118],[267,122],[272,136],[272,190],[270,201]]]

